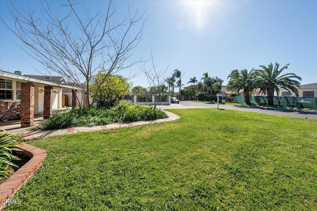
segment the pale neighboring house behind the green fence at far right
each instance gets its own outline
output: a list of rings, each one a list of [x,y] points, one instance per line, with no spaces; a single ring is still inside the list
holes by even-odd
[[[317,98],[317,83],[303,84],[300,88],[297,88],[299,97],[316,97]],[[277,93],[275,92],[277,96]],[[280,88],[278,96],[296,96],[293,92],[289,92],[286,89]]]

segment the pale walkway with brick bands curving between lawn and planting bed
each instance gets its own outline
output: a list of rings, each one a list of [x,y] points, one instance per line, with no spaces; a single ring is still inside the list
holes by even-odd
[[[20,134],[26,140],[34,140],[37,138],[43,138],[48,136],[55,136],[55,135],[65,135],[65,134],[72,134],[78,132],[89,132],[89,131],[98,131],[98,130],[106,130],[106,129],[117,129],[121,127],[132,127],[132,126],[142,126],[148,124],[155,124],[155,123],[163,123],[178,120],[180,117],[172,112],[165,111],[168,115],[166,119],[159,119],[153,121],[140,121],[140,122],[133,122],[133,123],[113,123],[106,126],[96,126],[96,127],[71,127],[65,129],[51,129],[51,130],[36,130],[32,131],[33,128],[39,126],[39,122],[43,120],[43,117],[37,117],[35,119],[35,126],[34,127],[24,127],[21,128],[21,122],[17,121],[7,121],[4,122],[0,129],[4,129],[9,133],[13,134]]]

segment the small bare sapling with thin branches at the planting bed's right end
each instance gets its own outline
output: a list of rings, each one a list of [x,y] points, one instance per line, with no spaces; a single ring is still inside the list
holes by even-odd
[[[165,74],[167,72],[169,64],[167,65],[165,70],[157,70],[154,65],[152,50],[151,50],[151,59],[149,61],[152,62],[151,64],[152,67],[148,69],[146,65],[147,62],[144,62],[142,64],[141,70],[147,77],[150,87],[154,87],[154,89],[152,90],[153,94],[155,94],[156,96],[159,95],[159,98],[160,98],[164,92],[163,89],[165,86]],[[159,101],[156,101],[154,107],[156,107],[158,103]]]

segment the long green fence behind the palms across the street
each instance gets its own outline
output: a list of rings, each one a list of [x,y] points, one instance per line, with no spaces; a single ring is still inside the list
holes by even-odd
[[[235,96],[237,103],[244,103],[244,96]],[[267,104],[266,96],[250,96],[253,104]],[[274,105],[287,107],[317,108],[317,98],[314,97],[273,97]]]

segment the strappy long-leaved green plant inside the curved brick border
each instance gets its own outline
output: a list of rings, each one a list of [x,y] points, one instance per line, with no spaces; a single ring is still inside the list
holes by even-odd
[[[0,176],[9,177],[11,173],[8,166],[18,167],[11,161],[19,160],[12,154],[13,151],[21,151],[14,148],[14,145],[24,141],[20,135],[8,134],[4,130],[0,130]]]

